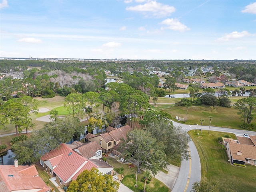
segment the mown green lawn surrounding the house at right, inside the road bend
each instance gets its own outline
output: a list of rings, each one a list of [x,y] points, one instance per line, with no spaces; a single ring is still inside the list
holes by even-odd
[[[247,165],[246,168],[233,166],[228,162],[226,150],[221,148],[218,137],[224,134],[236,138],[234,134],[224,132],[202,131],[202,135],[196,135],[194,131],[188,134],[192,138],[198,150],[201,162],[201,180],[216,182],[220,191],[230,188],[236,192],[255,192],[256,167]]]

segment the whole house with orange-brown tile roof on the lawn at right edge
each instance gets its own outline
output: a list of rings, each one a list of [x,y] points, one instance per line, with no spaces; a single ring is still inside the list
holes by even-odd
[[[224,139],[231,164],[250,164],[256,166],[256,136],[238,137],[237,140]]]

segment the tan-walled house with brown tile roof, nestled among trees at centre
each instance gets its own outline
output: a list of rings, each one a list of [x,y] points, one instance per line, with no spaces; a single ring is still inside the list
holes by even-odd
[[[116,146],[122,138],[126,138],[126,134],[132,130],[129,125],[110,130],[100,135],[87,134],[84,138],[88,142],[96,141],[104,153],[111,153],[114,146]]]

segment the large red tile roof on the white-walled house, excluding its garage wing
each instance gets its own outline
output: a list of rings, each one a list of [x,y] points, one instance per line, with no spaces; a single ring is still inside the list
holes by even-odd
[[[59,164],[53,169],[54,173],[58,175],[64,182],[68,180],[77,170],[84,164],[88,163],[88,159],[80,156],[74,152],[66,144],[60,144],[56,149],[44,154],[41,160],[50,160],[59,156]],[[56,160],[54,160],[56,162]],[[94,165],[96,166],[96,165]]]

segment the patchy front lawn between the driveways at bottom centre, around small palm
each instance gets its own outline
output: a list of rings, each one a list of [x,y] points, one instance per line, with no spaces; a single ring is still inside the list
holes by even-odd
[[[127,164],[121,164],[118,161],[116,161],[114,158],[106,157],[108,164],[112,165],[114,169],[123,167],[124,168],[124,179],[121,181],[122,184],[133,190],[134,192],[140,192],[140,190],[144,189],[144,182],[142,182],[143,178],[143,171],[142,174],[137,174],[137,184],[138,187],[134,187],[136,184],[136,171],[137,167],[134,168],[128,168]],[[160,182],[159,180],[152,177],[152,180],[149,184],[146,184],[147,192],[170,192],[170,189]]]

